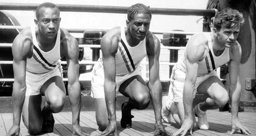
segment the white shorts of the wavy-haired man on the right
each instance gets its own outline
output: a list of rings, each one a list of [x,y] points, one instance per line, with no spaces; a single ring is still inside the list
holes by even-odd
[[[197,93],[197,87],[204,82],[206,79],[208,79],[211,76],[217,76],[216,71],[211,71],[210,73],[207,73],[205,75],[201,75],[197,77],[195,88],[194,88],[194,97]],[[182,103],[183,102],[183,89],[185,84],[185,77],[186,73],[181,70],[178,66],[174,66],[171,74],[171,82],[168,92],[168,97],[171,98],[171,100]]]

